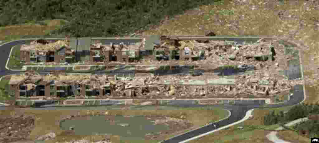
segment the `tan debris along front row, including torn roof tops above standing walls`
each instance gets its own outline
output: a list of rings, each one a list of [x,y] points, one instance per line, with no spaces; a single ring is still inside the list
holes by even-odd
[[[24,75],[12,75],[9,84],[25,84],[32,89],[37,85],[38,80],[55,81],[55,84],[62,85],[88,85],[88,90],[98,90],[104,87],[110,88],[108,96],[121,98],[165,98],[165,97],[256,97],[273,96],[278,93],[288,92],[294,85],[303,84],[300,79],[288,80],[278,78],[275,73],[267,74],[261,71],[254,71],[254,74],[236,75],[234,85],[215,85],[208,84],[208,81],[216,79],[207,73],[199,75],[202,83],[200,85],[186,85],[182,83],[193,83],[193,76],[174,76],[172,75],[145,75],[134,77],[117,77],[116,75],[72,75],[61,72],[50,73],[45,76],[35,75],[26,72]],[[220,77],[218,77],[220,78]],[[195,80],[197,81],[197,80]],[[195,82],[194,81],[194,82]]]

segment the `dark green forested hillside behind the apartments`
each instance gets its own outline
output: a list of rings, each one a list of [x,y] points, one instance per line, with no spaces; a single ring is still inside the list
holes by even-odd
[[[184,10],[213,2],[214,0],[2,0],[0,27],[62,19],[70,22],[51,34],[128,35],[146,26],[158,24],[160,20]]]

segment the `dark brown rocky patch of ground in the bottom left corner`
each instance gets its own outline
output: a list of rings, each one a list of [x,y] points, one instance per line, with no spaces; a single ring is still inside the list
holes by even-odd
[[[14,115],[0,118],[0,142],[9,143],[26,139],[34,128],[34,117]]]

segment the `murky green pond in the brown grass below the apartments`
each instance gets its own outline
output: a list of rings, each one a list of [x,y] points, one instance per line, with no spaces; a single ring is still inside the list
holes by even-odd
[[[156,133],[168,130],[167,125],[154,125],[144,116],[124,117],[114,116],[110,121],[106,116],[84,116],[60,123],[63,130],[74,128],[76,135],[119,135],[122,137],[144,138],[147,133]]]

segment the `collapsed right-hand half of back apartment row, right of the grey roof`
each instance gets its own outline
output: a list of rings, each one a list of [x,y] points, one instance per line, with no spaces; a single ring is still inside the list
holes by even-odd
[[[222,40],[181,40],[178,37],[161,36],[160,44],[154,45],[154,59],[204,60],[223,58],[229,60],[273,60],[275,55],[271,41],[260,39],[256,43],[237,44]],[[163,56],[164,55],[164,56]],[[210,59],[213,60],[213,59]]]

